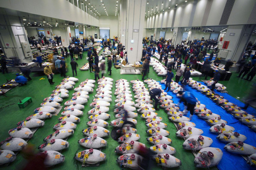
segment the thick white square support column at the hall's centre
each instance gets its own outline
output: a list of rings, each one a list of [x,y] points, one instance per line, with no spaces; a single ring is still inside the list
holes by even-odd
[[[140,61],[142,56],[142,39],[145,21],[146,0],[127,1],[127,38],[126,50],[128,62]]]

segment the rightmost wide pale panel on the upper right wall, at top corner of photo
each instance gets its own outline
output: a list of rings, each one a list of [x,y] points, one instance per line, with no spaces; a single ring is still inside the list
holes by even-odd
[[[255,0],[235,1],[227,25],[246,24],[254,4]]]

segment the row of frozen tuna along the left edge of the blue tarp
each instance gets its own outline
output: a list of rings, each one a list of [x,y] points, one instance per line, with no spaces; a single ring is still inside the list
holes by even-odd
[[[148,84],[154,82],[153,79],[147,79],[145,82]],[[161,86],[162,87],[162,86]],[[169,120],[176,124],[178,131],[176,132],[177,137],[183,138],[183,148],[186,150],[199,150],[194,163],[196,167],[212,167],[218,165],[222,158],[222,151],[219,148],[210,147],[212,144],[212,139],[205,137],[201,129],[195,128],[195,123],[189,122],[189,118],[182,116],[184,112],[179,111],[179,107],[173,104],[173,101],[160,100],[160,107],[165,109],[167,115],[169,115]],[[203,107],[201,104],[197,104],[197,108]],[[205,154],[206,153],[206,154]],[[207,159],[205,159],[207,158]],[[207,160],[207,161],[206,161]]]

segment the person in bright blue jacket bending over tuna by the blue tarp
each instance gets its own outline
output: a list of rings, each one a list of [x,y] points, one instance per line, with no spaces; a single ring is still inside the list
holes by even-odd
[[[197,103],[196,97],[188,91],[178,91],[178,95],[180,96],[180,101],[176,105],[180,106],[181,101],[183,101],[185,105],[184,111],[183,111],[184,115],[187,115],[189,111],[190,112],[189,119],[191,120],[194,115],[194,108]]]

